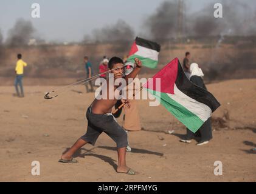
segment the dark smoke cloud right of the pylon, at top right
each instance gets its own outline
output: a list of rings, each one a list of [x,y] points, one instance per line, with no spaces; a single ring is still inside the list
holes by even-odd
[[[186,16],[189,36],[252,35],[255,32],[255,13],[240,1],[223,1],[223,18],[214,18],[214,3],[197,13]]]

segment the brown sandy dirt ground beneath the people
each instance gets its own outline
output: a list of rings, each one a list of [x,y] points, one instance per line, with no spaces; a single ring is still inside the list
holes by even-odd
[[[14,97],[12,86],[0,86],[0,181],[256,181],[256,155],[250,151],[256,147],[256,79],[207,85],[221,103],[213,117],[224,119],[226,127],[213,127],[213,139],[204,146],[179,142],[184,126],[161,105],[140,100],[145,130],[129,133],[132,152],[126,156],[139,172],[135,176],[116,173],[115,144],[105,134],[95,147],[79,150],[77,164],[58,162],[86,132],[85,111],[94,94],[77,86],[45,100],[44,92],[54,86],[24,81],[25,98]],[[40,162],[40,176],[31,174],[32,161]],[[213,173],[215,161],[223,163],[222,176]]]

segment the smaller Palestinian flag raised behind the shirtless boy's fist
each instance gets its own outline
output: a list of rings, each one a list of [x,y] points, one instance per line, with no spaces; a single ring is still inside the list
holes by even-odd
[[[127,61],[134,62],[135,58],[139,58],[145,67],[156,68],[160,49],[161,46],[156,42],[136,37]]]

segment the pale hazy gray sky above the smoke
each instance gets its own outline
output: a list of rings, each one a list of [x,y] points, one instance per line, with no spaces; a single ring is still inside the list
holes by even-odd
[[[18,18],[32,21],[38,35],[47,41],[80,41],[94,28],[126,21],[136,33],[141,32],[145,19],[164,0],[1,0],[0,30],[4,39]],[[214,0],[184,0],[187,12],[197,12]],[[240,0],[242,1],[242,0]],[[41,18],[30,16],[33,3],[40,4]],[[255,0],[244,0],[256,6]]]

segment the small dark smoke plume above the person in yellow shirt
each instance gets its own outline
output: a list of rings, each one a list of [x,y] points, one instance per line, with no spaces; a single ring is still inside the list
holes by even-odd
[[[27,45],[29,39],[33,38],[35,28],[32,22],[18,19],[12,29],[9,30],[7,37],[8,45]]]

